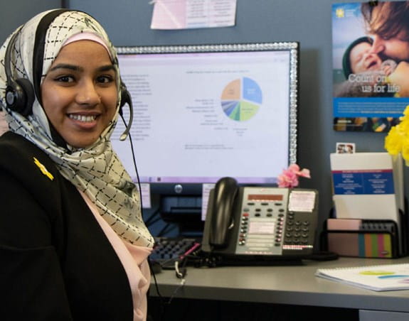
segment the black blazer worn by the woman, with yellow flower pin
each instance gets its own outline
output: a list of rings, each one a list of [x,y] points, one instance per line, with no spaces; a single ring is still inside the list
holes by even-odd
[[[127,275],[83,197],[11,132],[0,137],[0,289],[3,321],[133,318]]]

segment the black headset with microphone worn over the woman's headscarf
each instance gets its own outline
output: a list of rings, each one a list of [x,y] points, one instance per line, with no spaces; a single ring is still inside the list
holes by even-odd
[[[58,9],[47,13],[41,21],[38,23],[36,31],[36,41],[33,51],[33,79],[34,84],[31,84],[30,80],[26,78],[17,78],[11,74],[11,53],[16,45],[16,39],[18,33],[20,33],[21,27],[9,41],[6,48],[6,53],[4,55],[4,70],[6,72],[6,106],[11,111],[16,111],[18,114],[27,117],[33,112],[33,102],[36,97],[36,92],[40,92],[40,80],[41,72],[43,70],[43,55],[44,55],[44,43],[46,39],[46,33],[48,26],[54,21],[54,19],[61,13],[69,11],[68,9]],[[120,82],[120,92],[121,92],[121,104],[119,106],[119,114],[122,116],[122,107],[125,104],[129,106],[129,121],[126,125],[125,131],[120,136],[119,140],[124,141],[129,135],[131,130],[132,120],[134,118],[134,112],[132,107],[132,97],[128,92],[127,87],[124,82]],[[38,98],[41,102],[41,97]]]

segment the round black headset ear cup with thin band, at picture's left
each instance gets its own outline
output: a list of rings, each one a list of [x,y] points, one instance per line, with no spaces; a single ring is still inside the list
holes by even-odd
[[[33,85],[28,79],[18,78],[15,80],[11,75],[11,51],[14,49],[19,32],[17,31],[11,37],[4,55],[4,69],[7,79],[6,105],[12,111],[28,116],[32,112],[35,97]]]

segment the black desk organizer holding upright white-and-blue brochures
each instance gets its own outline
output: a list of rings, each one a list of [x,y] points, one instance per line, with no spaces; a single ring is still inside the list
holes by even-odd
[[[348,256],[403,256],[407,219],[402,158],[393,158],[388,153],[331,153],[330,160],[336,220],[351,219],[352,223],[354,219],[361,219],[358,224],[363,225],[388,222],[390,228],[362,230],[354,227],[338,232],[328,229],[329,247],[334,249],[335,246],[336,253],[341,251]],[[392,229],[395,232],[391,232]],[[351,248],[344,249],[341,244],[351,244]]]

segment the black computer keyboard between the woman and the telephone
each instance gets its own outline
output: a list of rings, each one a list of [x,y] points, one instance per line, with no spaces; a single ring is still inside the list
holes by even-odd
[[[175,261],[184,259],[200,245],[196,239],[191,238],[155,237],[154,249],[149,259],[161,263],[162,266],[169,264],[171,267]]]

